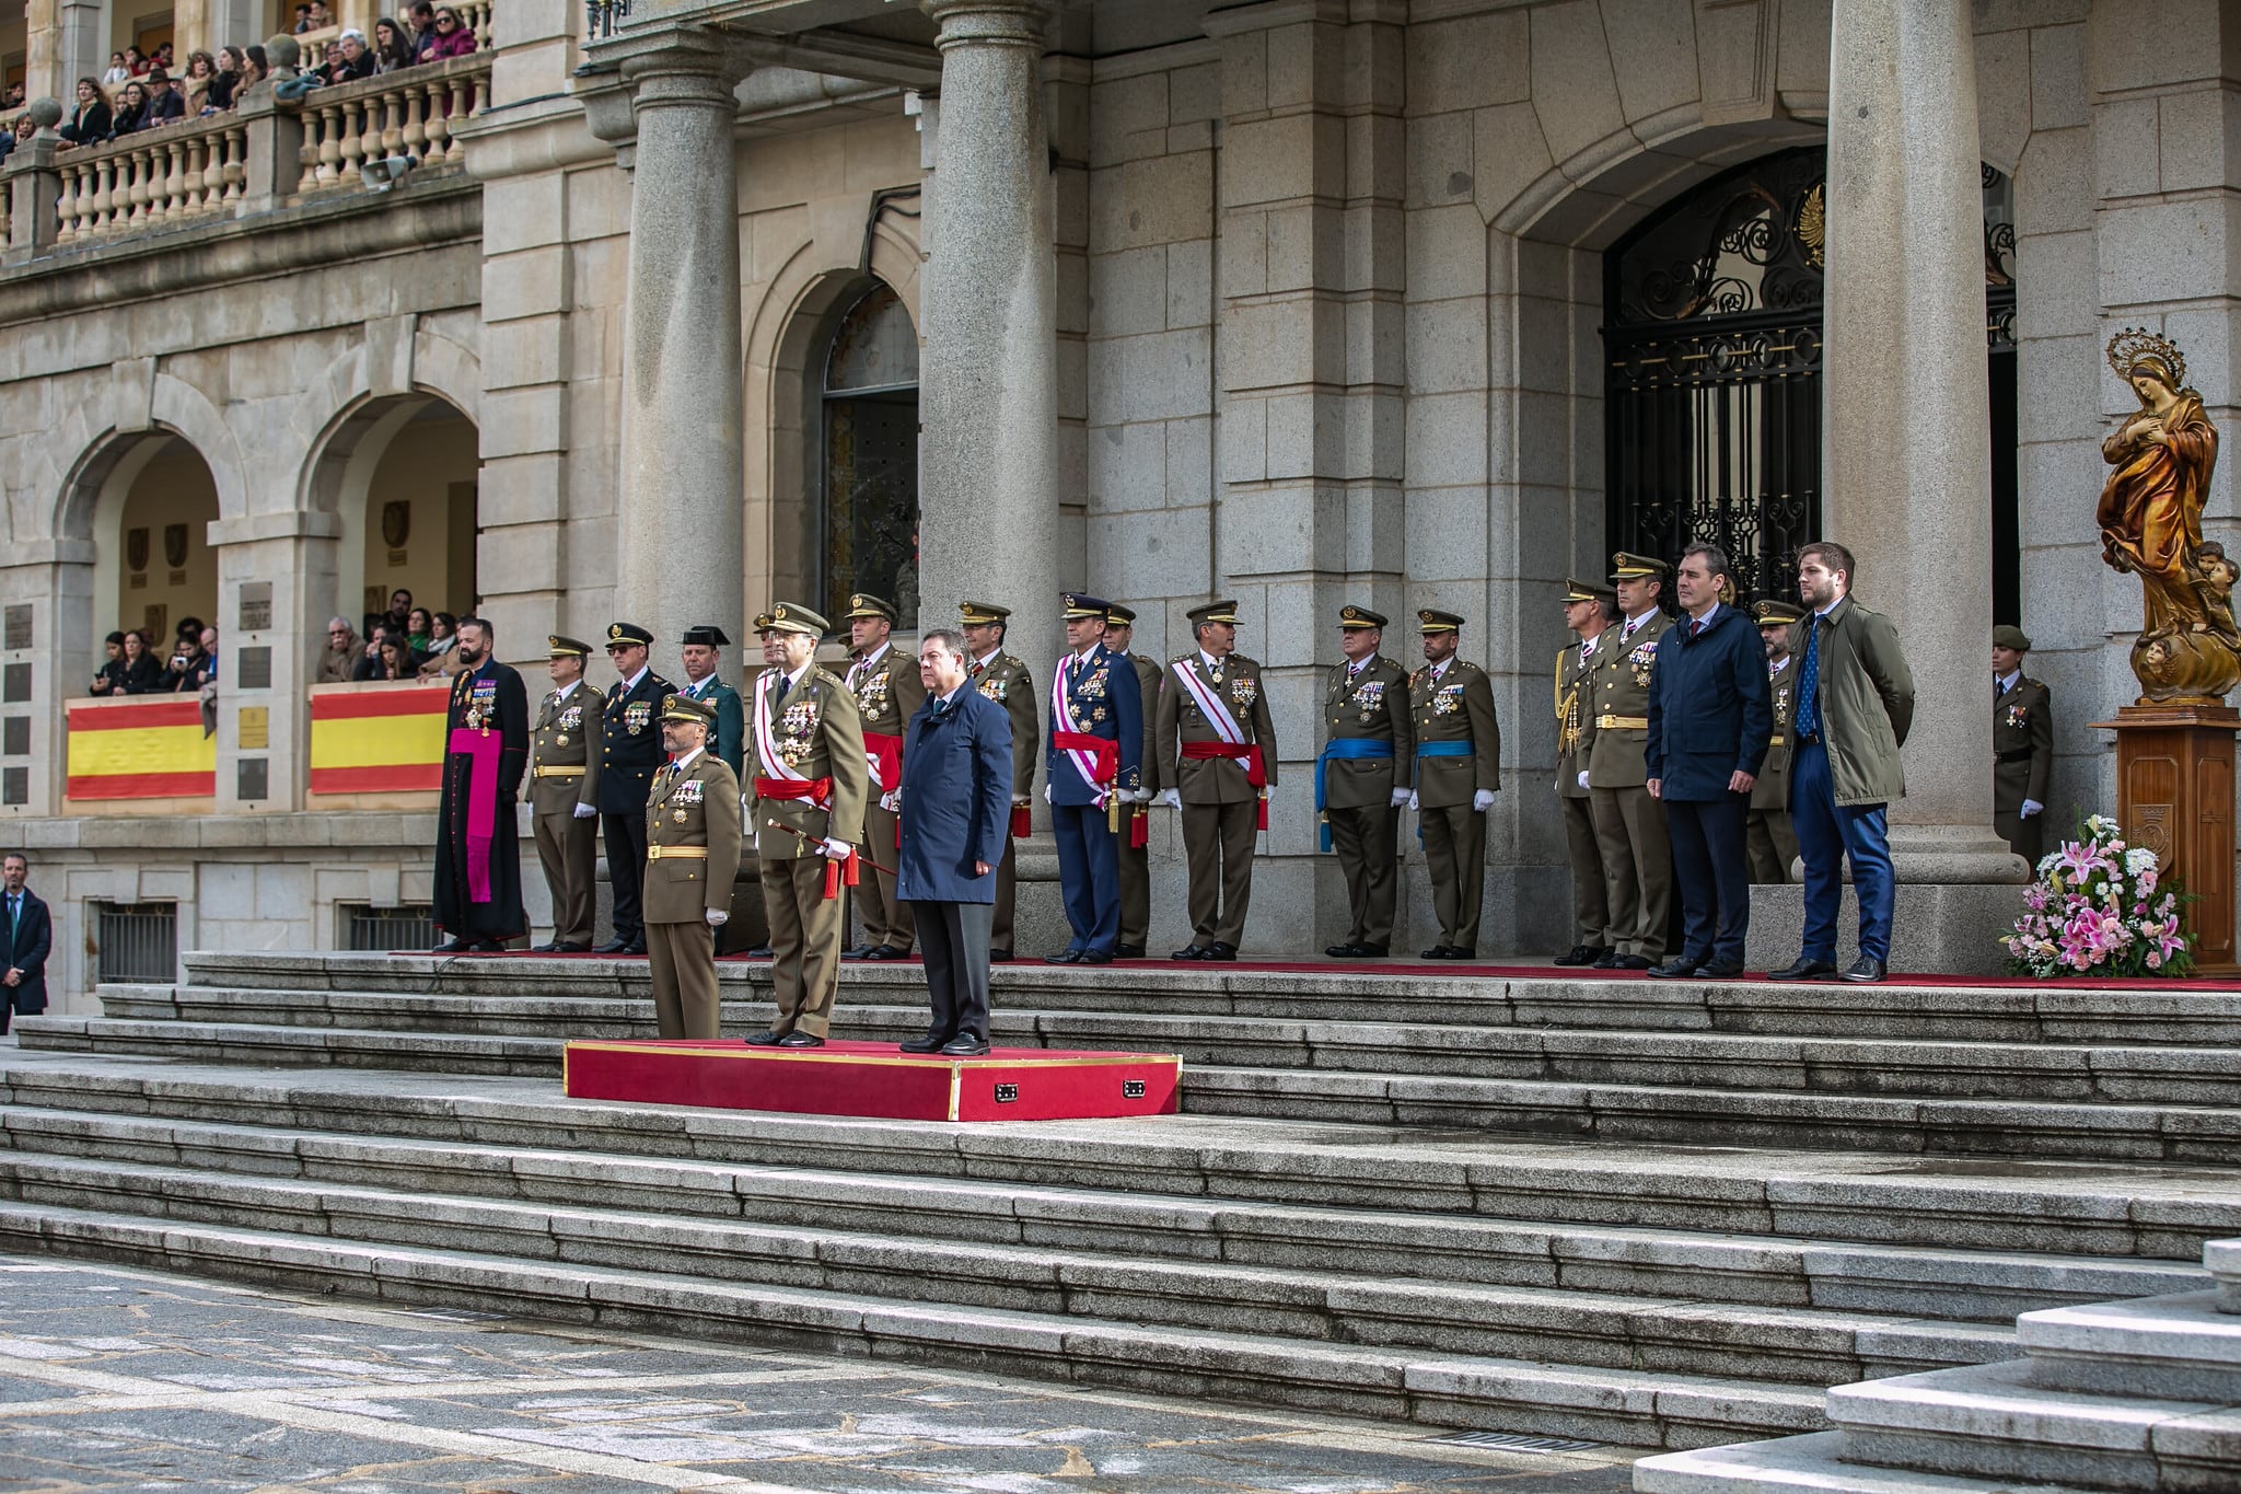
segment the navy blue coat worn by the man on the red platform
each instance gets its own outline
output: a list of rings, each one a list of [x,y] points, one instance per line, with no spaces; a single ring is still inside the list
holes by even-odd
[[[1011,715],[961,685],[948,715],[926,697],[903,728],[903,847],[894,896],[919,903],[995,903],[1011,818]]]

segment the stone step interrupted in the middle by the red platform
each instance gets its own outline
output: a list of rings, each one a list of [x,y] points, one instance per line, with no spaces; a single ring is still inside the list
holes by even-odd
[[[31,1051],[558,1075],[556,1037],[296,1028],[233,1021],[22,1017]],[[2241,1165],[2241,1109],[1923,1100],[1562,1080],[1183,1066],[1183,1109],[1371,1127],[1519,1131],[1596,1142],[1847,1147],[1934,1156],[2122,1158]]]

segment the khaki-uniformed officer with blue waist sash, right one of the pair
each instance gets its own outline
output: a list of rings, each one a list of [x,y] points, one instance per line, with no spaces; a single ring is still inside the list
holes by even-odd
[[[1439,943],[1425,959],[1479,956],[1479,905],[1486,900],[1486,811],[1501,788],[1501,726],[1486,670],[1457,659],[1463,618],[1425,607],[1423,667],[1407,676],[1416,728],[1414,791],[1423,860],[1432,871]]]

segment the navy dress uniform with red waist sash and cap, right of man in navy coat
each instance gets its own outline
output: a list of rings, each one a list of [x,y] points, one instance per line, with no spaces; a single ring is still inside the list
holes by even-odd
[[[1062,616],[1091,618],[1098,641],[1051,672],[1044,735],[1044,797],[1058,842],[1058,889],[1073,939],[1051,963],[1109,965],[1120,941],[1123,802],[1134,802],[1143,764],[1143,685],[1136,667],[1105,647],[1112,605],[1067,591]]]

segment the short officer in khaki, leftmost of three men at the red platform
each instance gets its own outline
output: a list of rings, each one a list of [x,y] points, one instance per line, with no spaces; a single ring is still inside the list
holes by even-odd
[[[715,945],[708,930],[731,916],[740,874],[740,779],[708,741],[713,701],[672,694],[661,706],[661,746],[645,797],[645,959],[663,1037],[715,1037]]]

